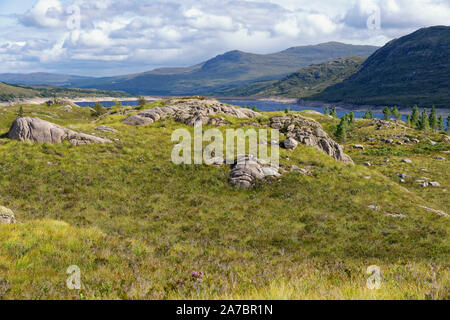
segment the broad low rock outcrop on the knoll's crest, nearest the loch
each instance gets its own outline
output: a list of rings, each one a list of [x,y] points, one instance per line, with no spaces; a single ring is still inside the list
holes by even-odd
[[[220,115],[232,116],[238,119],[256,118],[260,113],[249,109],[235,108],[213,99],[173,99],[164,107],[155,107],[144,110],[125,119],[123,123],[140,126],[152,124],[165,118],[173,118],[175,121],[186,125],[223,126],[229,122]]]

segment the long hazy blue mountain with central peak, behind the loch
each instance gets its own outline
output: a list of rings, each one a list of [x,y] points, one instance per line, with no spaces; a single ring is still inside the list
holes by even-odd
[[[188,68],[164,68],[141,74],[89,79],[69,87],[121,90],[133,94],[207,94],[254,81],[278,80],[313,63],[349,56],[367,57],[377,49],[329,42],[265,55],[230,51]]]

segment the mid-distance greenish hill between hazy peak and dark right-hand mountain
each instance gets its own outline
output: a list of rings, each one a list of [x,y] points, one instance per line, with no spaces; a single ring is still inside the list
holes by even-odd
[[[214,94],[234,97],[305,98],[354,75],[359,71],[364,60],[361,57],[349,57],[313,64],[278,81],[249,83],[237,88],[218,90]]]

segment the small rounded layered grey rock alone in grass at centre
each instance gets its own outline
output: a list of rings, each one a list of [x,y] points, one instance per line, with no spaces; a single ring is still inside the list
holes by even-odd
[[[251,155],[238,155],[231,166],[229,182],[232,186],[248,189],[258,180],[266,177],[279,177],[280,168],[258,160]]]

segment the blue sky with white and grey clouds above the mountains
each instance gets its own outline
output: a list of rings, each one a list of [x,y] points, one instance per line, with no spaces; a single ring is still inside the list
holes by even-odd
[[[0,73],[112,76],[230,50],[382,46],[449,21],[450,0],[0,0]]]

